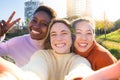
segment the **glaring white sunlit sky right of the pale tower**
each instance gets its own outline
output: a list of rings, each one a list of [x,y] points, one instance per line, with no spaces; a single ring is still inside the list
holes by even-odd
[[[115,21],[120,18],[119,4],[120,0],[92,0],[92,16],[103,20],[105,13],[108,20]]]

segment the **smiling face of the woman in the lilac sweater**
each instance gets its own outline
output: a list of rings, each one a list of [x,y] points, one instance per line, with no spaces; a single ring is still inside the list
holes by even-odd
[[[39,11],[35,13],[28,27],[31,38],[36,40],[44,39],[50,20],[46,12]]]

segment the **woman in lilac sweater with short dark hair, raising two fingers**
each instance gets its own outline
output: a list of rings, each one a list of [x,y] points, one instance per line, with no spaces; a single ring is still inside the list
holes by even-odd
[[[9,23],[12,17],[13,14],[6,23],[2,23],[4,25],[0,25],[0,35],[5,35],[9,28],[12,27],[14,22]],[[35,51],[44,49],[44,38],[49,23],[54,18],[56,18],[56,13],[52,8],[44,5],[39,6],[28,25],[29,34],[0,43],[0,56],[11,57],[19,67],[27,64]]]

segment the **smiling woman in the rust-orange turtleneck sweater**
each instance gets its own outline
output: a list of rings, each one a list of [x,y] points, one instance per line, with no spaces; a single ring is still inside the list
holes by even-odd
[[[95,40],[95,23],[89,18],[80,18],[73,21],[75,31],[75,53],[87,58],[93,70],[111,65],[117,59]]]

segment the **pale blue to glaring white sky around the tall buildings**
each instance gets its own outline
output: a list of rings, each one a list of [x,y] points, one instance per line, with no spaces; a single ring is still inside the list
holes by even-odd
[[[0,0],[0,20],[7,20],[13,11],[16,14],[13,18],[24,19],[24,2],[28,0]],[[66,17],[66,0],[42,0],[46,5],[57,12],[58,17]],[[110,21],[120,18],[120,0],[91,0],[91,12],[94,19],[103,19],[103,14]]]

